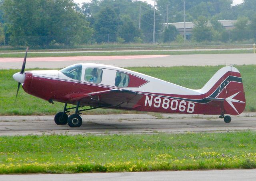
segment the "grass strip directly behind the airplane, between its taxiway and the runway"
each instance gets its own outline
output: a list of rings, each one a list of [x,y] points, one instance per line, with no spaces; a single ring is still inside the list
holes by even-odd
[[[181,67],[140,67],[128,68],[180,86],[200,89],[223,66],[181,66]],[[236,66],[242,74],[246,93],[246,111],[256,111],[255,75],[256,65]],[[55,115],[63,110],[63,103],[54,105],[20,89],[16,103],[15,95],[18,83],[12,78],[18,70],[0,70],[0,115]],[[83,114],[136,113],[113,109],[94,109]]]

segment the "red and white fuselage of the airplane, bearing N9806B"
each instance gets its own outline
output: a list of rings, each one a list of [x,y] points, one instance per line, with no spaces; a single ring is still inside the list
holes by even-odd
[[[240,76],[240,73],[234,72],[234,76]],[[26,71],[22,87],[27,93],[47,101],[71,104],[76,104],[76,101],[71,101],[74,95],[113,89],[130,90],[143,96],[133,108],[122,109],[220,114],[224,111],[222,102],[207,99],[216,97],[216,94],[221,97],[222,92],[225,93],[221,86],[223,80],[214,81],[217,83],[212,86],[192,90],[123,68],[85,63],[75,64],[60,71]],[[237,84],[240,85],[240,82]],[[86,102],[81,103],[87,105]]]

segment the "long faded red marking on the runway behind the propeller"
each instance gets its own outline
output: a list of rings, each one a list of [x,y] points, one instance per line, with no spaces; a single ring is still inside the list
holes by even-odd
[[[138,58],[158,58],[168,55],[134,55],[134,56],[76,56],[76,57],[37,57],[27,58],[28,62],[52,62],[52,61],[90,61],[90,60],[123,60]],[[0,58],[0,62],[23,62],[24,58]]]

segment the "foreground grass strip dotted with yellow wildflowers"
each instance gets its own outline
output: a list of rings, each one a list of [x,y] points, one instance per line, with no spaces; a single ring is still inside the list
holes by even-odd
[[[256,132],[0,137],[0,173],[256,168]]]

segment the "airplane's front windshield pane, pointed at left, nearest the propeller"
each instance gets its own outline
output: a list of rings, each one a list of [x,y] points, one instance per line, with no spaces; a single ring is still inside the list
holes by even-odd
[[[81,80],[82,65],[72,65],[60,70],[62,74],[74,80]]]

